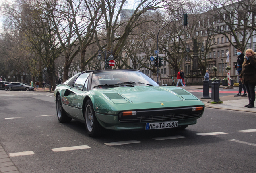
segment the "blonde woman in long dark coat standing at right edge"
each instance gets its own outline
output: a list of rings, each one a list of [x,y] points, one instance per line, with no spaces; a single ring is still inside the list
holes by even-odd
[[[255,101],[255,85],[256,85],[256,57],[252,49],[246,50],[246,58],[242,65],[240,80],[246,87],[248,93],[249,104],[244,107],[253,108]]]

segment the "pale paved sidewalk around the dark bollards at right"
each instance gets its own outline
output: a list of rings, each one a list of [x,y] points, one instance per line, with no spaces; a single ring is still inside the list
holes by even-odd
[[[237,88],[237,90],[234,90],[234,91],[238,91],[238,86],[232,86],[232,87]],[[182,87],[182,88],[186,89],[186,90],[192,90],[192,89],[202,89],[203,90],[202,85],[192,85],[192,86],[186,86],[186,87]],[[220,86],[219,91],[225,91],[225,89],[223,89],[223,88],[224,87]],[[209,108],[227,109],[227,110],[232,110],[232,111],[245,111],[245,112],[256,113],[256,107],[254,107],[254,108],[244,107],[244,105],[247,105],[249,103],[248,97],[234,97],[234,95],[220,97],[219,99],[221,101],[223,101],[223,103],[221,103],[221,104],[207,103],[211,99],[200,99],[200,100],[205,104],[205,107],[209,107]],[[202,93],[202,96],[203,96],[203,93]],[[209,96],[211,97],[211,87],[209,87]]]

